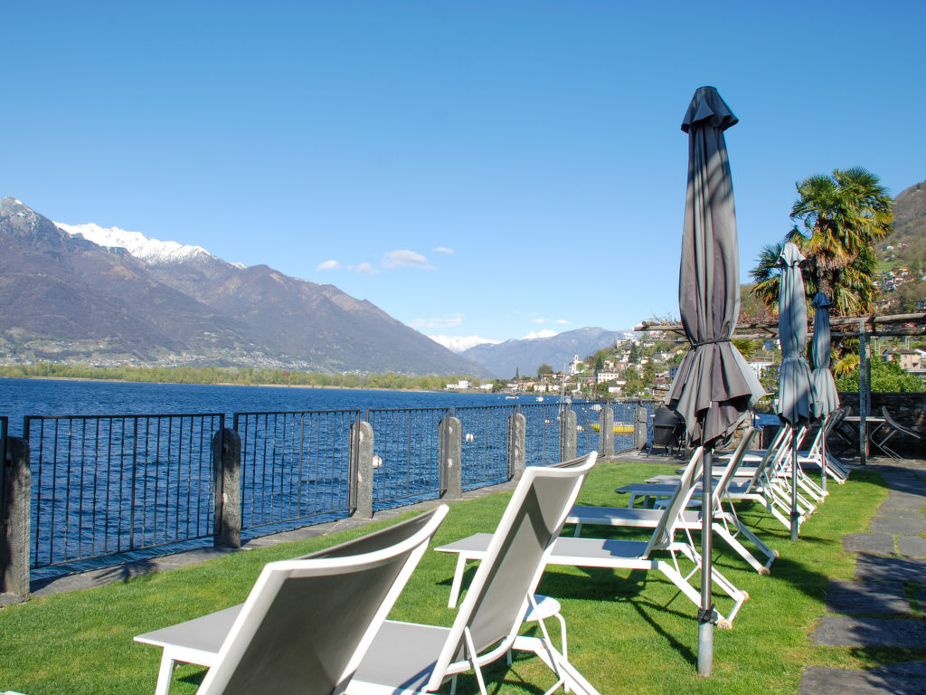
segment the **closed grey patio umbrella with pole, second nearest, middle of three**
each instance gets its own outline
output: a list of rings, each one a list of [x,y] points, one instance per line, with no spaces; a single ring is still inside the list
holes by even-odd
[[[782,280],[778,291],[778,333],[782,341],[782,370],[778,376],[778,416],[791,424],[791,539],[797,540],[797,448],[795,429],[809,422],[813,414],[810,367],[804,359],[807,345],[807,298],[800,262],[800,249],[784,245],[778,264]]]

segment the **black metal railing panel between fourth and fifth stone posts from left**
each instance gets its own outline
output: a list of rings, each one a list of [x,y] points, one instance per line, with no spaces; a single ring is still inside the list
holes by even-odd
[[[508,464],[508,419],[516,406],[455,408],[460,421],[463,489],[502,483],[511,477]]]

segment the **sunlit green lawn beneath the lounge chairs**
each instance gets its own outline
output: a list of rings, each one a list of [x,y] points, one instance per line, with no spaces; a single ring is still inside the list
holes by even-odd
[[[580,502],[620,504],[613,492],[616,486],[654,473],[665,473],[665,467],[599,464]],[[570,660],[602,693],[795,695],[807,664],[865,668],[902,657],[896,651],[816,647],[808,637],[825,613],[829,579],[848,579],[854,572],[855,556],[842,550],[842,538],[866,530],[886,495],[880,475],[870,472],[856,472],[845,486],[830,489],[830,499],[803,526],[796,544],[762,509],[744,509],[746,523],[781,551],[770,576],[757,575],[721,542],[715,544],[720,571],[751,598],[732,630],[715,630],[711,678],[696,674],[694,606],[668,581],[642,572],[547,569],[540,591],[556,597],[563,606]],[[435,545],[494,530],[509,496],[496,494],[454,504]],[[8,607],[0,611],[0,691],[150,693],[160,650],[135,644],[133,636],[243,601],[265,562],[318,550],[385,524],[235,553],[104,588]],[[605,529],[587,526],[584,533],[596,531]],[[446,608],[446,600],[455,562],[455,555],[426,553],[392,617],[449,625],[454,612]],[[726,595],[717,594],[715,600],[721,612],[729,610]],[[555,621],[550,629],[556,632]],[[183,666],[176,672],[171,692],[194,692],[203,673],[201,667]],[[502,660],[487,669],[486,676],[490,691],[500,695],[540,693],[552,683],[543,663],[533,658],[516,657],[510,668]],[[461,678],[459,692],[478,692],[475,680]]]

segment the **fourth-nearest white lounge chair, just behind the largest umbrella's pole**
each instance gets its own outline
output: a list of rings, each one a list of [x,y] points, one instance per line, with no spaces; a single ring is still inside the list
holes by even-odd
[[[735,512],[726,512],[722,508],[721,502],[726,494],[727,487],[732,482],[733,475],[736,474],[740,462],[743,461],[746,449],[755,438],[757,430],[750,429],[746,432],[739,446],[736,448],[733,456],[727,461],[721,469],[721,474],[717,479],[716,486],[713,490],[714,497],[714,519],[711,528],[730,548],[741,558],[745,560],[760,575],[770,574],[769,568],[772,562],[778,558],[778,553],[771,550],[769,546],[763,543],[751,530],[736,516]],[[700,475],[703,449],[697,449],[696,455],[688,462],[687,467],[695,466],[694,479]],[[682,469],[684,474],[685,469]],[[678,481],[679,479],[676,479]],[[607,525],[617,527],[633,528],[656,528],[662,517],[662,511],[658,509],[639,509],[628,507],[587,507],[575,506],[569,512],[567,524],[575,524],[575,536],[582,535],[582,527],[585,525]],[[689,544],[694,547],[694,541],[691,537],[692,531],[701,531],[701,512],[696,510],[686,510],[682,512],[678,528],[685,532]],[[756,548],[766,556],[766,562],[759,562],[756,557],[746,550],[745,546],[737,539],[743,535],[748,537]]]

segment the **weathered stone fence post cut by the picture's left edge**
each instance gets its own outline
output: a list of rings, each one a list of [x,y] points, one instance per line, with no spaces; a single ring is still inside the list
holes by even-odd
[[[29,441],[6,437],[6,461],[0,461],[6,475],[6,504],[0,505],[6,519],[0,520],[0,591],[15,596],[29,595],[29,547],[31,486]]]

